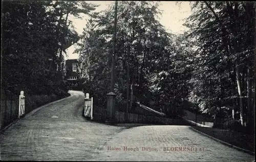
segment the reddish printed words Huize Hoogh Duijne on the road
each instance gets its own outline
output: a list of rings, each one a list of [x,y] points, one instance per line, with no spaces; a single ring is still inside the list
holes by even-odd
[[[151,152],[151,151],[158,151],[158,149],[152,148],[152,147],[127,147],[127,146],[111,147],[111,146],[108,146],[108,151],[147,151],[147,152]]]

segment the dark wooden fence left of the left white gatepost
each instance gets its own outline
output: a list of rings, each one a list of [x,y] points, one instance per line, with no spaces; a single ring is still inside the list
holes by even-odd
[[[1,130],[18,119],[18,101],[1,101]]]

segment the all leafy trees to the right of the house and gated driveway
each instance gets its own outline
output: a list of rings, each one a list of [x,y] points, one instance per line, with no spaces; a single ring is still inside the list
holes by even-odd
[[[153,105],[167,115],[193,109],[252,128],[255,4],[195,2],[184,34],[167,33],[157,2],[118,2],[117,103]],[[110,92],[114,4],[88,21],[78,49],[86,89],[105,106]],[[117,107],[118,108],[118,107]]]

